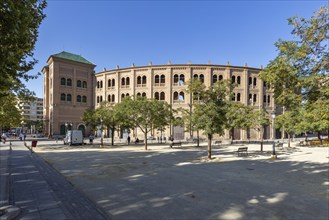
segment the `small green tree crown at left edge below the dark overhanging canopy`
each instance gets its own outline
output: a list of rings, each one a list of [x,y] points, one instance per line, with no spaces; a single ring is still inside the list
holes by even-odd
[[[0,96],[0,128],[18,127],[21,124],[21,113],[17,108],[17,99],[13,94]]]

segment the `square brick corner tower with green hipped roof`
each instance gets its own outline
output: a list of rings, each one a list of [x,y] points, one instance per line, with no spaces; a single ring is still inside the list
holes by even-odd
[[[44,133],[49,137],[65,135],[67,129],[89,132],[81,117],[94,108],[94,68],[80,55],[61,52],[51,55],[44,75]]]

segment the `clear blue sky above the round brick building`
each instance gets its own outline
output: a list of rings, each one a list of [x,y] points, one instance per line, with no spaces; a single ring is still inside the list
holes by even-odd
[[[310,18],[327,1],[48,1],[31,73],[61,51],[80,54],[96,72],[148,65],[226,64],[264,67],[274,43],[292,39],[287,19]],[[27,83],[43,97],[43,76]]]

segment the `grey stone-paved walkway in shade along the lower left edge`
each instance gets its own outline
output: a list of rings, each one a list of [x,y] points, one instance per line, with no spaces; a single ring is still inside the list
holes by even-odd
[[[110,219],[23,142],[1,143],[0,157],[0,207],[19,210],[0,219]]]

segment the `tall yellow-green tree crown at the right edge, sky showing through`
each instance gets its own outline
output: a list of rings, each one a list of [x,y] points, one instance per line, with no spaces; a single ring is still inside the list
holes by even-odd
[[[313,110],[319,107],[319,102],[328,108],[328,102],[323,100],[329,99],[329,6],[320,8],[309,20],[289,18],[288,24],[293,26],[291,33],[296,40],[280,39],[275,44],[278,56],[261,72],[261,77],[274,89],[276,104],[284,111],[290,111],[287,115],[293,112],[295,117],[296,111],[303,111],[311,117],[317,113]],[[296,131],[302,127],[326,129],[312,126],[314,120],[309,120],[311,124],[308,125],[301,120],[302,126],[295,125],[294,120],[289,121],[293,124],[285,121],[282,126],[294,127]]]

